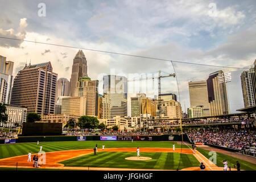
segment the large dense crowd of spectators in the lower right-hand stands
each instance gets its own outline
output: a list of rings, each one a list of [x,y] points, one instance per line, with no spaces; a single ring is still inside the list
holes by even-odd
[[[255,147],[255,131],[245,130],[191,130],[187,132],[192,142],[214,144],[217,146],[246,151],[247,147]]]

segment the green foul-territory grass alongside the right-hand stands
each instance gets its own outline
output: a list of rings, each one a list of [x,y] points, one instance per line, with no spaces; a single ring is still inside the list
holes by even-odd
[[[206,158],[210,158],[211,156],[209,156],[209,151],[208,150],[204,150],[203,148],[199,148],[197,147],[197,150],[203,154]],[[234,168],[234,165],[236,165],[236,161],[238,161],[240,163],[240,168],[241,170],[245,170],[245,171],[256,171],[256,165],[253,163],[249,163],[246,162],[244,160],[241,159],[237,159],[237,158],[233,158],[231,156],[231,161],[230,161],[230,155],[225,155],[225,154],[221,154],[220,152],[216,152],[217,154],[217,166],[218,167],[224,167],[223,164],[223,160],[226,159],[228,162],[228,166],[230,166],[231,168]]]

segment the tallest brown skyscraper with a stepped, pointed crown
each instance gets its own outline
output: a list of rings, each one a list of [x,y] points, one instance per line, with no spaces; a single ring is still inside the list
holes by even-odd
[[[82,77],[88,76],[87,75],[87,61],[82,50],[77,52],[72,66],[72,73],[70,79],[70,96],[75,96],[75,88],[76,82],[79,81]]]

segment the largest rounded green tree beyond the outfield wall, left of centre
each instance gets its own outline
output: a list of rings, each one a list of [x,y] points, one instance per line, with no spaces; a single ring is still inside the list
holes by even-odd
[[[96,129],[98,126],[98,119],[96,117],[83,115],[79,118],[79,121],[77,122],[77,126],[80,127],[80,129]]]

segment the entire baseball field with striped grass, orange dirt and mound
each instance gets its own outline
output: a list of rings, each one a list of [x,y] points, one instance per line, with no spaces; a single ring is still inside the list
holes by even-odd
[[[93,148],[98,146],[97,155]],[[173,150],[175,144],[175,150]],[[105,149],[102,150],[102,146]],[[44,164],[32,168],[27,162],[28,152],[37,155],[43,146]],[[140,157],[137,157],[137,147]],[[77,142],[36,142],[0,144],[0,170],[200,170],[200,163],[206,170],[223,170],[223,159],[229,166],[238,160],[242,170],[255,171],[255,162],[234,158],[216,152],[216,164],[210,159],[209,151],[203,148],[192,150],[189,144],[181,142],[152,141],[77,141]],[[233,169],[235,170],[235,169]]]

